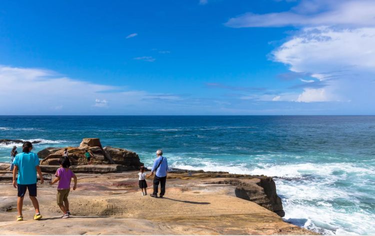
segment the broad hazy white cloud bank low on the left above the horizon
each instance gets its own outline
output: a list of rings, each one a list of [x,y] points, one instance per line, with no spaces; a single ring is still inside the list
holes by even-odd
[[[169,100],[178,99],[177,95],[162,97],[143,90],[125,90],[40,68],[0,65],[0,81],[0,114],[97,114],[100,107],[115,114],[142,114],[157,106],[161,111]],[[164,99],[149,99],[157,97]]]

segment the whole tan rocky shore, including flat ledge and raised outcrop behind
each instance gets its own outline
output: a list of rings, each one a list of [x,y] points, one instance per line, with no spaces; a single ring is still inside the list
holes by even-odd
[[[94,153],[95,164],[81,160],[84,148]],[[49,147],[38,153],[46,179],[58,168],[55,162],[61,150]],[[58,226],[65,223],[77,225],[84,234],[316,234],[281,219],[284,211],[272,177],[171,169],[166,197],[155,199],[139,195],[136,170],[143,163],[135,152],[101,147],[92,138],[68,150],[78,176],[78,188],[70,196],[74,217],[51,220],[59,214],[55,187],[39,184],[38,198],[48,225],[37,224],[43,222],[45,231],[37,231],[31,220],[22,222],[29,230],[14,227],[15,189],[6,169],[9,164],[0,163],[1,234],[61,234]],[[147,182],[151,191],[152,180]],[[32,214],[30,202],[25,208]],[[82,234],[78,229],[71,227],[62,234]]]

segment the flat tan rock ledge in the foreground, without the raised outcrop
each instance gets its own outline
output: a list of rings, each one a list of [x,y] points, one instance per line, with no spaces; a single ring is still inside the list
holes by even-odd
[[[6,165],[0,164],[1,234],[61,234],[61,225],[66,225],[63,234],[316,234],[284,222],[255,200],[240,198],[238,189],[247,188],[261,201],[259,190],[264,188],[257,183],[268,177],[188,170],[170,172],[166,197],[156,199],[139,195],[137,171],[77,173],[69,219],[59,219],[55,186],[38,184],[44,219],[30,220],[33,209],[25,198],[26,220],[19,228],[14,221],[15,190],[4,178],[10,173]],[[147,182],[150,190],[152,182]]]

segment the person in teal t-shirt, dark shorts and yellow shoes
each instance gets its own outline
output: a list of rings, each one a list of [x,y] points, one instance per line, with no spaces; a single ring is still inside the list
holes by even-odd
[[[29,141],[26,141],[22,145],[22,152],[17,154],[14,157],[13,164],[13,186],[18,190],[18,199],[17,199],[17,210],[18,216],[17,221],[23,220],[22,216],[22,206],[23,206],[23,197],[28,190],[28,195],[31,199],[32,205],[35,208],[34,219],[41,219],[41,214],[39,211],[39,202],[36,199],[36,172],[39,174],[40,183],[44,182],[43,175],[41,174],[39,166],[38,155],[34,152],[31,152],[32,144]],[[15,180],[18,172],[18,178]]]

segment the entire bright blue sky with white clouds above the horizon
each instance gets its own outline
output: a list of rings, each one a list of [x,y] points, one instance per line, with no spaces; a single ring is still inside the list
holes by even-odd
[[[0,115],[375,114],[373,0],[2,0]]]

